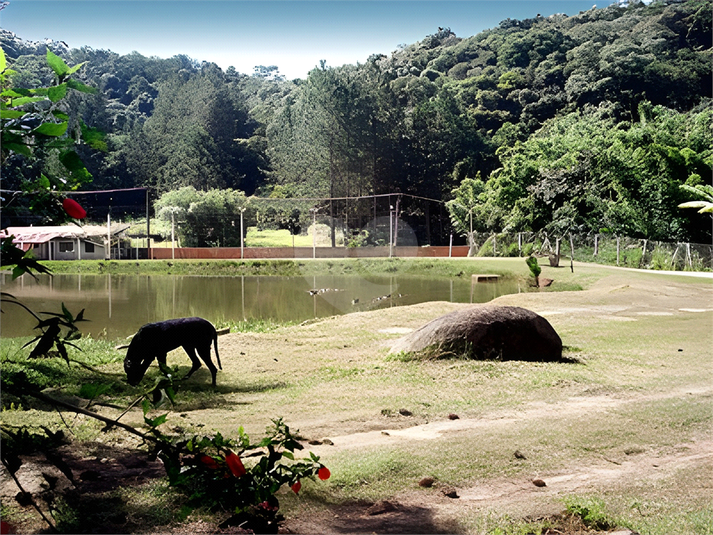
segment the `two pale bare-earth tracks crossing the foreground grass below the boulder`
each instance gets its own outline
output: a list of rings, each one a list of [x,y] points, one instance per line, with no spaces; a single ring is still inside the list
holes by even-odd
[[[551,418],[576,417],[587,420],[594,413],[603,413],[627,404],[640,404],[683,396],[713,397],[713,387],[684,388],[654,395],[591,396],[568,399],[560,403],[531,403],[518,411],[502,411],[477,419],[443,420],[404,429],[388,429],[329,437],[333,444],[313,446],[320,455],[372,446],[388,446],[406,441],[428,442],[448,438],[449,434],[479,429],[505,428],[518,422],[542,421],[547,426]],[[424,447],[428,447],[424,444]],[[523,455],[523,454],[521,454]],[[524,455],[523,455],[524,457]],[[632,451],[622,460],[601,457],[598,462],[532,478],[499,478],[465,488],[443,488],[436,482],[430,492],[406,491],[384,507],[381,504],[358,503],[338,508],[337,513],[312,516],[309,521],[292,519],[294,532],[319,533],[447,533],[457,526],[454,522],[468,511],[496,511],[515,517],[555,517],[562,511],[562,498],[602,488],[638,481],[657,485],[658,481],[675,478],[682,470],[707,474],[713,481],[713,437],[677,445],[670,452]],[[706,477],[706,476],[704,476]],[[692,496],[710,492],[704,488],[689,488]],[[374,513],[376,508],[384,512]],[[336,516],[333,516],[336,515]],[[425,524],[424,524],[425,522]],[[424,531],[425,527],[425,531]],[[455,528],[454,528],[455,529]],[[595,531],[592,531],[594,533]],[[575,533],[575,532],[572,532]],[[623,530],[621,533],[629,533]]]

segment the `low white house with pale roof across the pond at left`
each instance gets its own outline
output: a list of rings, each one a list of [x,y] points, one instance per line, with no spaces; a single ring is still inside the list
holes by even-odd
[[[64,225],[55,227],[8,227],[0,237],[14,236],[15,245],[23,251],[32,249],[38,260],[105,260],[109,259],[109,236],[118,234],[129,225],[112,225],[110,230],[99,225]]]

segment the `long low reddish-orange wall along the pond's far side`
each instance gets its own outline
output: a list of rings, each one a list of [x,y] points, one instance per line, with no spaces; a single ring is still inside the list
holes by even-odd
[[[397,257],[448,257],[449,247],[394,247],[392,256]],[[245,247],[243,258],[312,258],[312,247]],[[317,247],[315,258],[384,258],[389,256],[388,247]],[[468,256],[467,245],[453,246],[450,256]],[[155,260],[176,259],[240,259],[240,247],[156,247],[151,249]]]

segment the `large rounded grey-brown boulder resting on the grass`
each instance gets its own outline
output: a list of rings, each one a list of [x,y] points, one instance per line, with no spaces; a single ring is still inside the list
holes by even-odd
[[[558,361],[562,340],[531,310],[477,306],[456,310],[399,339],[391,353],[467,355],[474,359]]]

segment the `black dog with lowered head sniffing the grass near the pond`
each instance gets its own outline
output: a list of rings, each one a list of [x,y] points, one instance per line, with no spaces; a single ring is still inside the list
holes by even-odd
[[[129,344],[124,359],[126,378],[130,385],[139,384],[153,359],[158,358],[159,362],[166,364],[166,354],[177,347],[183,347],[193,362],[186,378],[201,367],[201,361],[196,357],[197,349],[213,376],[213,386],[215,386],[215,375],[218,370],[210,360],[211,342],[215,345],[215,358],[222,370],[220,355],[218,355],[218,333],[209,321],[203,318],[180,318],[148,323],[139,329]]]

